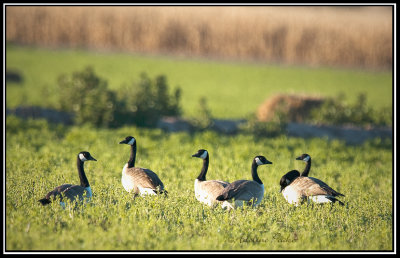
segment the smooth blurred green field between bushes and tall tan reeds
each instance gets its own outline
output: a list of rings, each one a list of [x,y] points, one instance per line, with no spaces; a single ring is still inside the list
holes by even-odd
[[[166,75],[171,88],[182,88],[181,103],[186,117],[196,116],[202,96],[217,118],[243,118],[276,93],[336,96],[343,92],[353,102],[358,93],[365,92],[373,107],[392,106],[390,71],[240,64],[11,45],[7,46],[6,65],[21,71],[25,79],[21,85],[7,84],[7,107],[55,106],[58,76],[88,65],[108,81],[111,89],[130,85],[141,72],[151,77]]]

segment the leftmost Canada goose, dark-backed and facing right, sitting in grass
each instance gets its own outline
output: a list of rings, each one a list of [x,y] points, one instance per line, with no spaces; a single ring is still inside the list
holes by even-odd
[[[81,183],[80,185],[63,184],[57,186],[56,188],[54,188],[53,191],[48,192],[43,199],[40,199],[39,202],[42,205],[47,205],[51,202],[51,197],[53,197],[53,199],[59,197],[61,206],[65,207],[63,196],[67,197],[71,201],[75,200],[76,198],[78,198],[80,201],[82,201],[84,198],[88,200],[88,198],[92,197],[92,189],[90,188],[89,181],[86,177],[85,171],[83,170],[83,163],[87,160],[97,161],[90,155],[89,152],[79,152],[77,157],[77,165],[79,179]]]

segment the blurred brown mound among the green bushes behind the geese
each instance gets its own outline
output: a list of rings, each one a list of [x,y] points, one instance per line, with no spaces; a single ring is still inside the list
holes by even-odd
[[[288,121],[303,122],[313,108],[324,102],[321,97],[278,94],[268,98],[257,110],[257,119],[263,122],[276,121],[283,116]]]

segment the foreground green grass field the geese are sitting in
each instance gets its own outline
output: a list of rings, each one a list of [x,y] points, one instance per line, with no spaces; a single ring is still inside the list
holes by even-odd
[[[360,146],[301,138],[224,136],[214,132],[165,134],[157,129],[63,127],[7,117],[6,250],[391,250],[393,249],[392,145]],[[137,139],[137,166],[163,180],[169,197],[136,198],[121,185],[129,158],[127,135]],[[273,162],[258,171],[265,195],[257,208],[211,209],[194,197],[202,162],[208,179],[250,179],[251,161]],[[93,200],[77,210],[38,199],[62,183],[79,183],[76,155],[85,163]],[[279,193],[280,177],[303,169],[295,157],[313,159],[310,176],[344,193],[345,206],[292,207]]]

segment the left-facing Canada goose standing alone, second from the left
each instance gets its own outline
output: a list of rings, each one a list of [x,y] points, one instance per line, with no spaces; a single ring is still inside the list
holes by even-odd
[[[132,192],[134,195],[156,195],[167,194],[164,189],[164,184],[156,173],[147,168],[135,167],[136,159],[136,139],[128,136],[120,144],[128,144],[131,146],[131,156],[128,163],[122,169],[122,186],[127,192]]]

